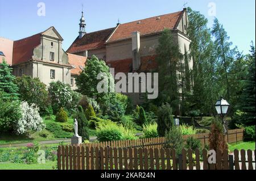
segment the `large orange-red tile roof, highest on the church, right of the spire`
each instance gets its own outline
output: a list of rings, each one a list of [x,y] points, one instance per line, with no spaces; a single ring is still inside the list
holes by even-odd
[[[155,16],[152,18],[137,20],[130,23],[119,24],[113,35],[108,40],[108,43],[118,40],[131,38],[132,32],[140,32],[141,36],[150,35],[152,33],[162,32],[164,28],[173,30],[177,26],[177,22],[183,15],[183,11],[174,12],[171,14]]]

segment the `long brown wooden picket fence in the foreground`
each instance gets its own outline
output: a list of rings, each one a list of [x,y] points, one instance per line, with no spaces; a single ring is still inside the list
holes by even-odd
[[[246,154],[247,152],[247,154]],[[251,150],[216,151],[216,163],[208,163],[208,151],[168,148],[93,148],[89,146],[59,146],[57,151],[59,170],[255,170]],[[253,161],[254,159],[254,161]]]

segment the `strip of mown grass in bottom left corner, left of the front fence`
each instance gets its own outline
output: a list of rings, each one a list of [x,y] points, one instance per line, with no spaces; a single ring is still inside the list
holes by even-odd
[[[1,163],[0,170],[52,170],[57,166],[57,161],[47,161],[46,163],[23,164],[23,163]]]

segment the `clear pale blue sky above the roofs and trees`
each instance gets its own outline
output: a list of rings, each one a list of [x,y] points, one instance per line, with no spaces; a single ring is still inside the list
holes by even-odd
[[[46,16],[38,16],[38,3],[46,5]],[[244,53],[255,43],[255,0],[0,0],[0,36],[22,39],[54,26],[63,37],[66,50],[78,35],[82,4],[86,32],[115,27],[120,23],[180,11],[184,3],[209,19],[209,3],[216,5],[216,17],[234,45]]]

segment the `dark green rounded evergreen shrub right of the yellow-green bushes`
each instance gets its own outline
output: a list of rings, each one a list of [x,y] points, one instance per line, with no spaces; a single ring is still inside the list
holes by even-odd
[[[172,117],[172,108],[170,104],[162,104],[158,108],[158,134],[163,137],[166,131],[170,130],[172,125],[174,125],[174,118]]]

